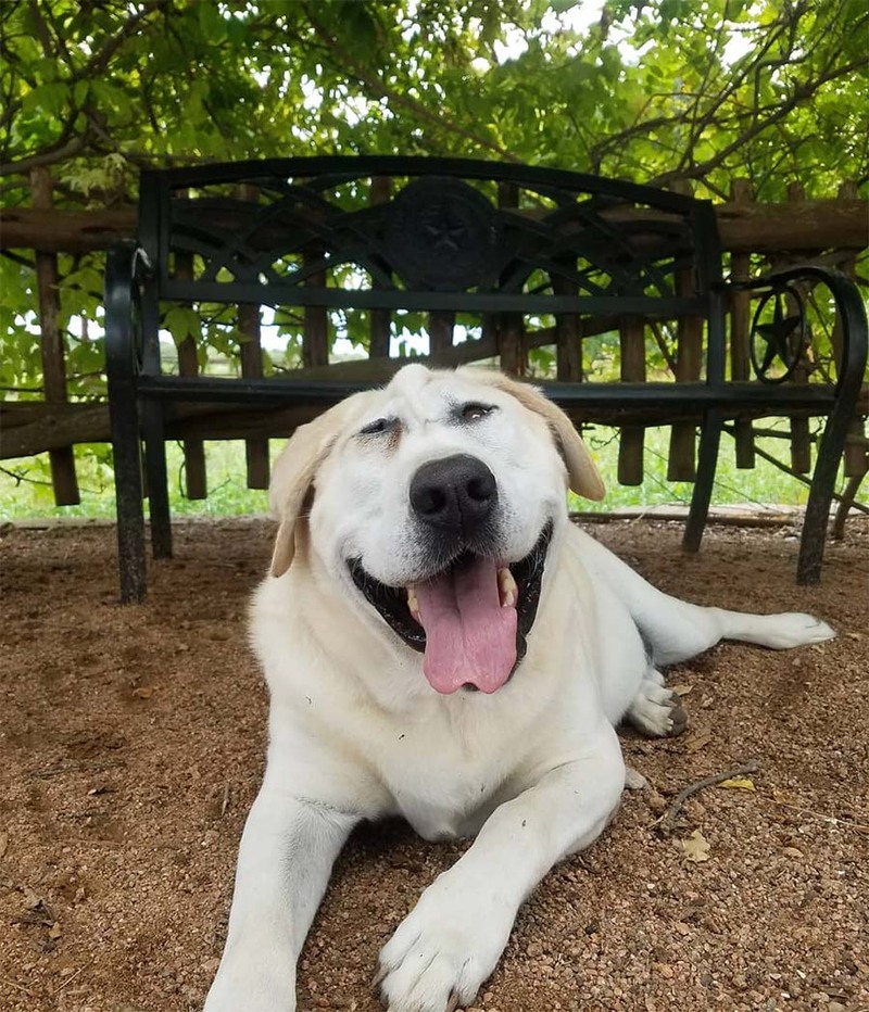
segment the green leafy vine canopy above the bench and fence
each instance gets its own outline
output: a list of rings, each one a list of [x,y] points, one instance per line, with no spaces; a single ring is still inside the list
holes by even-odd
[[[865,0],[4,0],[9,206],[142,166],[464,154],[759,199],[866,180]]]

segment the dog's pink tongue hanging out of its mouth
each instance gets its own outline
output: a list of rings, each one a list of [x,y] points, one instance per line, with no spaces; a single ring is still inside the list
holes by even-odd
[[[423,671],[431,687],[501,688],[516,663],[516,608],[501,606],[495,564],[478,559],[462,566],[418,584],[416,596],[426,630]]]

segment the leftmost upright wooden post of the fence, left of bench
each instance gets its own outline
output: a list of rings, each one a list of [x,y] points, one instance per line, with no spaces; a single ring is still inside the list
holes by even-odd
[[[34,207],[49,211],[53,205],[51,174],[40,166],[30,172]],[[59,324],[61,312],[58,294],[58,257],[54,253],[36,253],[36,291],[39,309],[39,347],[42,358],[42,385],[49,404],[67,401],[66,363],[63,334]],[[49,451],[51,484],[58,506],[77,506],[81,502],[75,473],[72,446]]]

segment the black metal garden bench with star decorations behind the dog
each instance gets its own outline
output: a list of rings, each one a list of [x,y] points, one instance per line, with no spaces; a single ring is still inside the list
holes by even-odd
[[[821,381],[806,371],[806,291],[817,283],[837,318],[833,375]],[[739,292],[757,304],[741,351],[728,342]],[[866,314],[854,283],[821,266],[726,281],[707,201],[557,169],[443,159],[147,172],[138,240],[110,252],[105,303],[124,600],[146,592],[142,470],[153,554],[172,554],[164,444],[180,405],[282,410],[285,431],[270,434],[287,434],[288,405],[303,420],[386,380],[406,360],[390,358],[390,327],[420,319],[434,365],[495,357],[518,374],[528,346],[553,345],[558,380],[542,387],[577,423],[698,426],[689,549],[700,545],[726,422],[827,416],[797,568],[801,582],[820,577],[837,467],[864,382]],[[167,375],[159,331],[173,305],[301,311],[319,351],[297,377],[262,378],[255,356],[248,356],[248,376]],[[365,369],[345,369],[341,379],[329,378],[335,367],[316,368],[328,362],[326,329],[337,312],[363,314],[370,351]],[[693,374],[689,367],[676,381],[640,382],[622,363],[622,376],[634,381],[582,375],[589,333],[618,330],[622,358],[630,354],[635,369],[639,356],[642,371],[644,328],[675,321],[693,333]],[[454,345],[456,324],[467,340]]]

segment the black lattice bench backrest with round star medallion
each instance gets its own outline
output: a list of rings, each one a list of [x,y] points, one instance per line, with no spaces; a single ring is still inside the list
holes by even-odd
[[[428,157],[203,165],[143,173],[139,241],[152,320],[160,300],[370,311],[374,355],[401,312],[430,331],[456,313],[700,317],[723,368],[711,205],[651,187]]]

